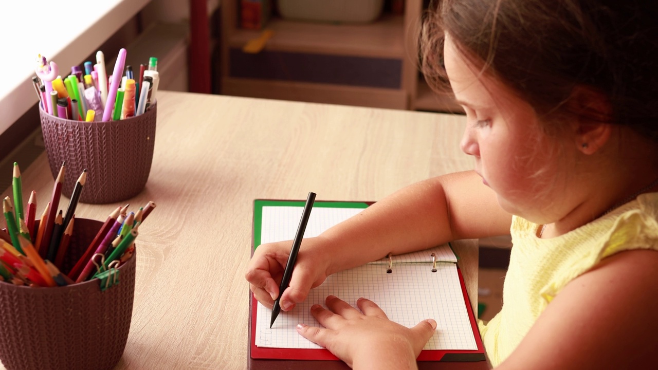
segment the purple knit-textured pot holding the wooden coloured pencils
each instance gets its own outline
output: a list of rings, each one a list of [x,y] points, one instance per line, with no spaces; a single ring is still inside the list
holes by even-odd
[[[75,219],[63,261],[68,273],[103,223]],[[137,253],[118,267],[118,284],[98,278],[53,288],[0,282],[0,361],[7,370],[109,370],[128,341]]]

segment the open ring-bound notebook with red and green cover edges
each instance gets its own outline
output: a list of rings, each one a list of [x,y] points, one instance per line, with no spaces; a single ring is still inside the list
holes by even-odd
[[[319,235],[369,204],[315,201],[305,238]],[[253,248],[291,240],[303,206],[303,201],[255,200]],[[324,305],[324,298],[330,294],[351,305],[360,297],[368,298],[378,304],[389,319],[407,327],[424,319],[435,319],[438,330],[418,356],[421,368],[432,368],[439,361],[442,368],[487,368],[480,334],[457,267],[457,256],[448,244],[383,256],[378,261],[331,275],[311,290],[305,302],[297,304],[290,312],[282,311],[272,329],[269,327],[271,310],[250,294],[249,368],[271,369],[280,365],[293,369],[296,365],[299,368],[319,365],[323,369],[347,369],[345,363],[295,330],[298,323],[320,326],[311,315],[310,307]],[[449,363],[458,367],[450,367]]]

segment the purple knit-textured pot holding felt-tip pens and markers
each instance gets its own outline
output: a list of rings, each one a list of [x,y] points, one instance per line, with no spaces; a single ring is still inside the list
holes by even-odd
[[[82,203],[120,202],[143,190],[153,162],[157,104],[143,115],[105,122],[61,119],[41,107],[39,115],[53,178],[66,161],[64,196],[70,198],[84,169]]]

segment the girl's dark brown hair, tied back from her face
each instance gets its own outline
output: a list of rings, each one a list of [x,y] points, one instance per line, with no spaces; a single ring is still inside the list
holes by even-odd
[[[443,0],[422,22],[421,68],[449,92],[445,33],[472,65],[528,101],[544,122],[583,115],[574,88],[601,93],[608,117],[658,141],[658,14],[646,0]],[[547,128],[550,130],[549,128]]]

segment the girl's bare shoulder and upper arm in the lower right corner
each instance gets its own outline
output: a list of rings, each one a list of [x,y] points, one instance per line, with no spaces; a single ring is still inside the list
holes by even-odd
[[[616,253],[571,280],[500,368],[652,368],[656,307],[658,251]]]

